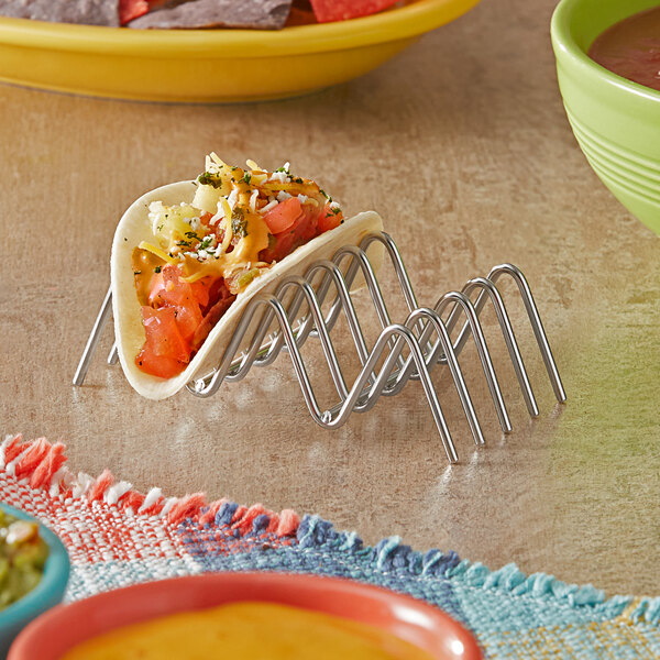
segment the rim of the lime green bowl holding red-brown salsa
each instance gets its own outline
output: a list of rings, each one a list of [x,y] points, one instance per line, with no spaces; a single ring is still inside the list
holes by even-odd
[[[632,94],[637,97],[642,98],[651,102],[660,102],[660,91],[634,82],[624,78],[618,74],[606,69],[604,66],[594,62],[576,43],[571,34],[572,20],[575,8],[579,7],[584,0],[561,0],[554,8],[552,13],[552,20],[550,22],[550,36],[552,38],[552,45],[557,59],[560,59],[560,54],[565,55],[572,64],[585,75],[595,75],[605,85],[614,87],[626,94]],[[630,16],[635,15],[632,12]]]

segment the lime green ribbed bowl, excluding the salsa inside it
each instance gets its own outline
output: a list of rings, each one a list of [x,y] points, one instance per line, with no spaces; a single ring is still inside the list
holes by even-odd
[[[559,88],[586,160],[614,196],[660,235],[660,91],[586,55],[607,28],[652,7],[658,0],[562,0],[551,36]]]

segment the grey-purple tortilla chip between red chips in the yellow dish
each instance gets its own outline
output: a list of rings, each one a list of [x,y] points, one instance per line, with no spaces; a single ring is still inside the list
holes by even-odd
[[[280,30],[292,0],[188,0],[164,7],[131,21],[129,28],[163,30],[204,28],[256,28]]]

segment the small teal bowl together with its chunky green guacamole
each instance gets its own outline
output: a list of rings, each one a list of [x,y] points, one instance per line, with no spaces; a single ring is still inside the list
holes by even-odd
[[[62,541],[32,516],[0,503],[0,658],[33,618],[62,601],[68,575]]]

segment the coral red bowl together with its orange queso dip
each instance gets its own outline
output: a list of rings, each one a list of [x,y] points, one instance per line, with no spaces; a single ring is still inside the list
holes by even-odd
[[[458,622],[421,601],[350,580],[207,573],[61,605],[8,660],[482,660]]]

